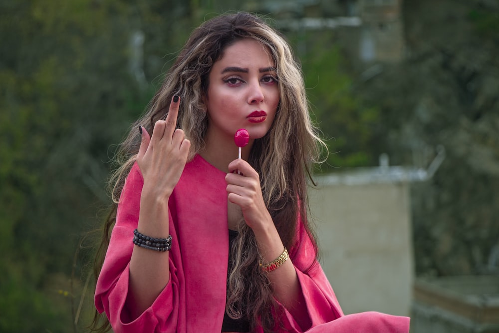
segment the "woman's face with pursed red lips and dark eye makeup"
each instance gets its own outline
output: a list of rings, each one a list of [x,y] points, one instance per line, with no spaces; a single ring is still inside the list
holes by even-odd
[[[275,64],[267,49],[249,38],[223,54],[209,75],[206,139],[234,140],[236,131],[246,128],[251,142],[263,137],[275,118],[280,99]]]

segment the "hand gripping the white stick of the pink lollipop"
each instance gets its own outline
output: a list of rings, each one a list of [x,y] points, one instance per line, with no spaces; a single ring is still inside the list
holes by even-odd
[[[241,207],[246,224],[253,231],[273,225],[261,193],[260,177],[247,161],[232,161],[225,180],[229,201]]]

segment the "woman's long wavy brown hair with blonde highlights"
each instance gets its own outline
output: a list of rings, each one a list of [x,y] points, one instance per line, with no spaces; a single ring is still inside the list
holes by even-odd
[[[208,119],[203,97],[208,91],[213,64],[222,58],[228,46],[244,38],[254,39],[268,49],[276,67],[280,93],[273,124],[265,136],[254,141],[249,163],[260,175],[263,199],[284,246],[293,247],[299,216],[317,255],[315,237],[307,221],[307,185],[311,164],[319,162],[322,149],[327,147],[310,120],[301,68],[291,48],[263,19],[238,12],[217,16],[192,32],[146,113],[131,126],[121,144],[116,155],[119,168],[110,181],[114,205],[103,227],[95,262],[96,277],[109,245],[119,196],[139,150],[138,126],[152,133],[155,122],[165,119],[171,97],[180,95],[177,126],[191,141],[189,159],[192,159],[204,148]],[[253,232],[243,218],[230,251],[235,261],[228,275],[227,313],[234,319],[248,319],[252,329],[261,326],[265,332],[271,332],[276,324],[273,314],[277,307],[271,285],[258,267],[260,255]],[[309,268],[313,263],[310,262]],[[101,331],[108,328],[104,325]]]

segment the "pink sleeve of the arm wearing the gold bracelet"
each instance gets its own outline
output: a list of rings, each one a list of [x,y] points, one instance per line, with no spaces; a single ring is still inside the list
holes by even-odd
[[[296,246],[289,255],[300,282],[311,327],[306,332],[407,333],[409,318],[376,312],[345,316],[321,266],[302,223],[299,223]],[[312,264],[312,266],[310,266]],[[303,332],[292,315],[283,309],[283,324],[291,332]]]

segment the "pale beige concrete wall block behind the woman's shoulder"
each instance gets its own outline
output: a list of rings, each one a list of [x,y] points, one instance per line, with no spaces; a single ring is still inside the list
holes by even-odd
[[[345,314],[408,316],[414,280],[408,183],[310,189],[321,264]]]

